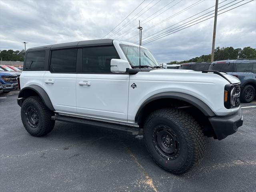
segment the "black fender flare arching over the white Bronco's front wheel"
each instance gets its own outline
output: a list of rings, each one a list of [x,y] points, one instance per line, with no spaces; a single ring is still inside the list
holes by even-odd
[[[158,93],[155,94],[153,96],[150,96],[148,99],[146,99],[142,105],[140,106],[140,108],[138,109],[136,116],[135,116],[135,122],[138,122],[138,118],[140,116],[140,112],[142,112],[143,108],[150,102],[154,101],[154,100],[158,100],[158,99],[163,99],[163,98],[172,98],[172,99],[178,99],[178,100],[182,100],[185,102],[188,102],[190,104],[192,104],[193,106],[195,106],[196,108],[198,108],[205,116],[215,116],[216,114],[214,114],[214,112],[211,110],[211,108],[205,104],[202,100],[186,94],[186,93],[181,93],[181,92],[162,92],[162,93]]]

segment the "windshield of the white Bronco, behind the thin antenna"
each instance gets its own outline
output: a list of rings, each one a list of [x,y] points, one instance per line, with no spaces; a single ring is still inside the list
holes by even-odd
[[[146,65],[152,68],[160,66],[149,50],[126,44],[120,46],[132,66]]]

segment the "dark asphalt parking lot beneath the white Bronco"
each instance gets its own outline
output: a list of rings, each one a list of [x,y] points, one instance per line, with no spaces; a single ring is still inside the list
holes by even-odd
[[[0,190],[256,191],[256,101],[242,104],[244,125],[206,138],[199,166],[173,175],[151,160],[142,136],[56,122],[47,136],[22,125],[18,92],[0,95]]]

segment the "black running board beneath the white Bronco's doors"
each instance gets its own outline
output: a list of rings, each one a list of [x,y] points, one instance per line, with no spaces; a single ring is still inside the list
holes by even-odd
[[[88,120],[88,119],[70,117],[70,116],[64,116],[64,115],[52,116],[52,120],[70,122],[70,123],[78,123],[78,124],[91,125],[91,126],[98,126],[98,127],[105,127],[105,128],[110,128],[110,129],[115,129],[115,130],[120,130],[120,131],[126,131],[127,133],[132,134],[132,135],[138,135],[140,132],[140,128],[136,128],[136,127],[132,127],[132,126],[125,126],[125,125],[120,125],[120,124]]]

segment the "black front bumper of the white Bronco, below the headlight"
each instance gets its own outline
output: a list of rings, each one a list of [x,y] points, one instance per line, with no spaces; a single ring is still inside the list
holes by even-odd
[[[243,125],[243,120],[244,116],[242,115],[241,107],[236,113],[228,116],[209,117],[209,121],[218,140],[234,134],[238,130],[238,127]]]

